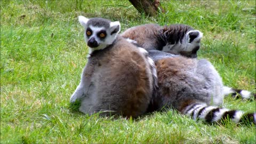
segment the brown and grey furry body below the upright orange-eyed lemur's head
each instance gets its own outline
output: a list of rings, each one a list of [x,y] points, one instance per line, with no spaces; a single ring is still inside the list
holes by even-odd
[[[82,100],[79,110],[85,114],[110,111],[137,117],[145,114],[151,100],[152,75],[139,49],[118,37],[113,45],[91,54],[70,101]]]

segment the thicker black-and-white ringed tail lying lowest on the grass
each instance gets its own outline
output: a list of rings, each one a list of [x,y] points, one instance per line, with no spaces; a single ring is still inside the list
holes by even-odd
[[[239,110],[207,106],[205,103],[193,103],[183,110],[183,114],[191,116],[195,121],[202,119],[207,123],[220,123],[223,120],[230,119],[234,123],[256,124],[256,113],[244,113]]]

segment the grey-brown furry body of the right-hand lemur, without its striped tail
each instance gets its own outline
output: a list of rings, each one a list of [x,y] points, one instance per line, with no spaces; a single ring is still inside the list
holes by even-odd
[[[156,63],[158,108],[179,109],[186,100],[205,102],[207,105],[221,105],[223,84],[212,64],[205,60],[188,59],[165,52],[150,50],[149,57]]]

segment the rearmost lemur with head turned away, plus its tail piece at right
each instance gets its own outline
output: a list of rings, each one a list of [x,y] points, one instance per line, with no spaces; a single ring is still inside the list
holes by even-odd
[[[188,58],[196,58],[203,34],[187,25],[161,27],[156,24],[146,24],[131,27],[125,30],[121,36],[146,50],[159,50]],[[159,54],[157,57],[161,58],[163,55]],[[254,95],[254,99],[256,98],[256,94],[228,86],[224,87],[223,93],[242,99],[250,99],[251,95]]]

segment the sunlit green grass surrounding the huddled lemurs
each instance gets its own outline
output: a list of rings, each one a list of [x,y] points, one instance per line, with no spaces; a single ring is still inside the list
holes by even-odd
[[[78,15],[121,22],[184,23],[204,33],[199,58],[223,83],[255,92],[255,1],[162,1],[140,15],[128,1],[1,1],[1,143],[255,143],[255,125],[208,125],[177,111],[139,119],[83,115],[69,107],[88,48]],[[25,16],[22,16],[25,15]],[[53,36],[51,36],[53,34]],[[255,101],[225,99],[255,111]]]

